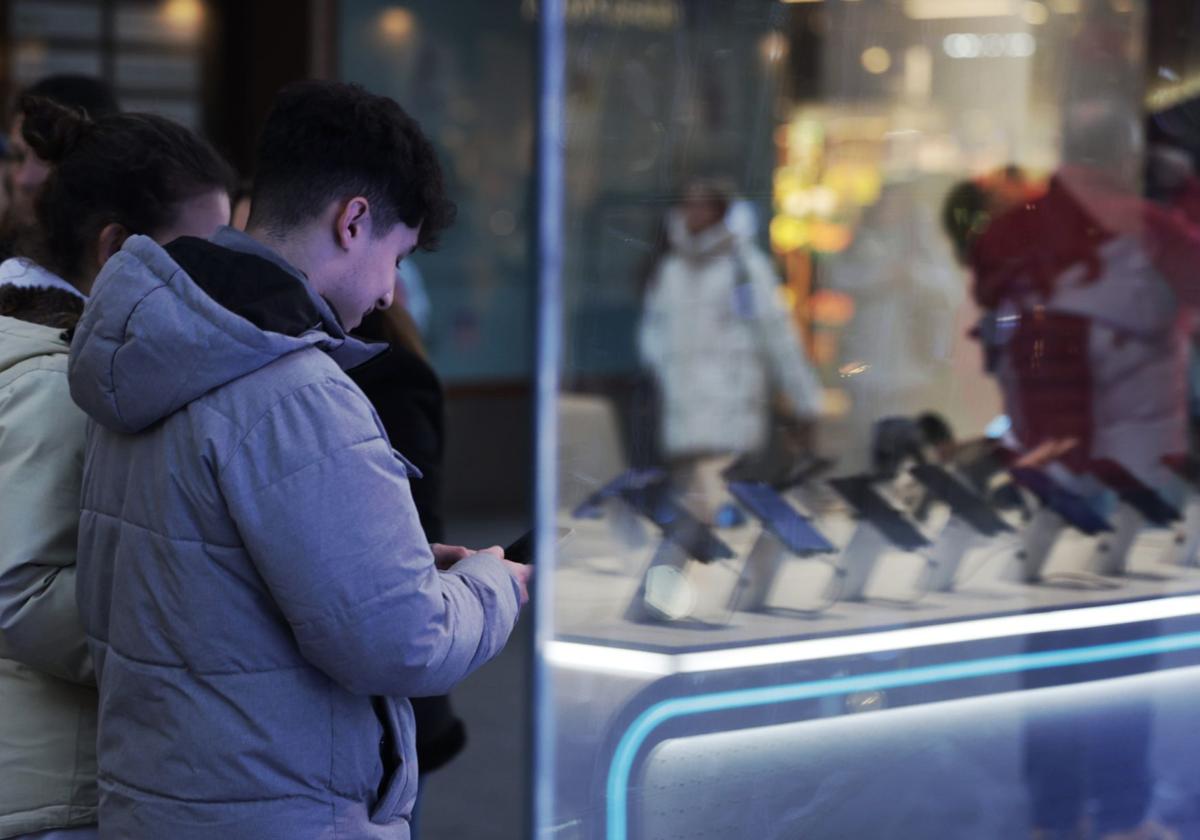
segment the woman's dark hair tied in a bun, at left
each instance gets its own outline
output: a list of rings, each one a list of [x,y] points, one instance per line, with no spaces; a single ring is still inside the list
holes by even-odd
[[[68,281],[86,274],[107,224],[154,235],[175,221],[184,202],[233,185],[233,170],[212,146],[166,118],[94,120],[36,96],[23,96],[18,109],[25,142],[50,164],[35,202],[36,228],[18,251]]]

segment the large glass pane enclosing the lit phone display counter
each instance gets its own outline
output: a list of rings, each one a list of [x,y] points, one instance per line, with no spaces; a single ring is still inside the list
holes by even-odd
[[[557,24],[539,835],[1200,830],[1194,10]]]

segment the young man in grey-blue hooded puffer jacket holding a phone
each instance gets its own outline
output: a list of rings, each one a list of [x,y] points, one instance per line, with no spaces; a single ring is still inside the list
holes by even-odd
[[[347,335],[452,205],[392,101],[280,94],[248,234],[131,239],[71,347],[101,835],[408,836],[412,710],[494,656],[528,570],[421,536]]]

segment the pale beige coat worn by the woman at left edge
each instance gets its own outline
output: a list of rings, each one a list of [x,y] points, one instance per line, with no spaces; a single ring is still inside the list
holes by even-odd
[[[0,316],[0,838],[96,822],[96,690],[74,593],[85,422],[61,335]]]

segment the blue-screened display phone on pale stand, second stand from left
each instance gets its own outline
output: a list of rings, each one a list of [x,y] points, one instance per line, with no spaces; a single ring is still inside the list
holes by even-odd
[[[767,606],[785,560],[832,554],[836,548],[774,487],[755,481],[730,481],[728,490],[762,523],[762,532],[730,596],[730,612],[757,612]]]

